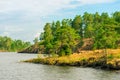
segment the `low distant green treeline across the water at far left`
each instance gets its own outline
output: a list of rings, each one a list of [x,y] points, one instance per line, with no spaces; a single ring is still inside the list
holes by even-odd
[[[7,36],[0,36],[0,50],[3,51],[20,51],[31,45],[30,42],[22,40],[13,40]]]

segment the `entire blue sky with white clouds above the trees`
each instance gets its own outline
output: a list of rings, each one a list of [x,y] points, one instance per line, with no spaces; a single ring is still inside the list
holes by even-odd
[[[0,0],[0,36],[33,41],[46,22],[120,11],[120,0]]]

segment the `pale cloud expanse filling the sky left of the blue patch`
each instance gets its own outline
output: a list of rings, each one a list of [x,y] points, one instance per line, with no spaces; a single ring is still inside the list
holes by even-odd
[[[40,28],[44,24],[41,20],[43,17],[54,15],[62,9],[114,1],[116,0],[0,0],[0,32],[14,38],[24,37],[24,40],[34,38],[37,32],[42,32]]]

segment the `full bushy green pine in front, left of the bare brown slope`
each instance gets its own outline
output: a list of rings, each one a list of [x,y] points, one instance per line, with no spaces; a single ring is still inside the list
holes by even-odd
[[[54,44],[59,55],[72,54],[73,48],[78,43],[77,40],[79,40],[79,35],[76,34],[76,31],[72,27],[64,25],[57,31]]]

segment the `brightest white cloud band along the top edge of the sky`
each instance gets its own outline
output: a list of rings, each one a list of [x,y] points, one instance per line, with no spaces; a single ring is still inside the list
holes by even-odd
[[[71,2],[76,1],[77,4],[71,4]],[[113,1],[115,0],[0,0],[0,12],[24,11],[27,15],[39,14],[44,16],[62,8]]]

